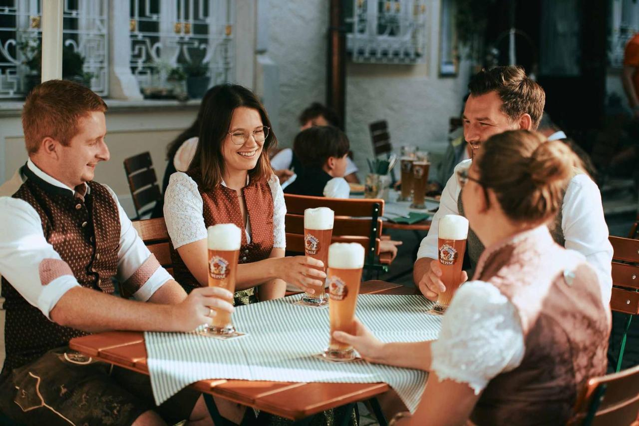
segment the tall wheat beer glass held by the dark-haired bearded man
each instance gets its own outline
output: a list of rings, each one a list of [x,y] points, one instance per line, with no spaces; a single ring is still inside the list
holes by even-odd
[[[439,223],[439,260],[442,282],[446,290],[439,294],[433,310],[444,313],[461,281],[461,265],[466,251],[468,219],[456,214],[447,214]]]

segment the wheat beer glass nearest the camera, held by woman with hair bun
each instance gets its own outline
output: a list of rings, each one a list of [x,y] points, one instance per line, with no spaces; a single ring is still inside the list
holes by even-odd
[[[324,356],[335,361],[355,359],[355,351],[333,339],[334,331],[355,334],[355,304],[362,281],[364,247],[356,242],[335,242],[328,248],[328,316],[330,342]]]

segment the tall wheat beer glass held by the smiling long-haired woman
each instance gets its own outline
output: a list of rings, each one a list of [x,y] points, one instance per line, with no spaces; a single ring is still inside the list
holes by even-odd
[[[333,222],[335,213],[328,207],[304,210],[304,253],[307,256],[321,260],[326,272],[328,264],[328,246],[333,236]],[[327,304],[327,296],[324,293],[324,285],[311,286],[314,294],[305,293],[302,301],[307,304]]]

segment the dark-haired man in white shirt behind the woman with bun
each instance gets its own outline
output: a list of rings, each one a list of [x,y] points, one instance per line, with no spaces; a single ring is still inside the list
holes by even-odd
[[[463,114],[464,138],[477,150],[490,136],[506,130],[536,130],[544,111],[544,90],[529,79],[520,67],[497,67],[483,70],[468,84],[470,96]],[[440,208],[433,217],[428,235],[422,241],[413,269],[413,279],[424,296],[435,299],[445,286],[440,280],[438,264],[438,225],[446,214],[464,214],[457,176],[467,171],[472,159],[460,162],[447,182]],[[496,226],[498,226],[496,224]],[[576,173],[566,188],[562,209],[555,223],[549,224],[553,238],[566,248],[579,251],[597,270],[601,281],[601,298],[610,303],[612,246],[603,217],[601,194],[585,173]],[[468,232],[466,253],[472,274],[484,246],[472,230]],[[468,279],[463,272],[463,280]]]

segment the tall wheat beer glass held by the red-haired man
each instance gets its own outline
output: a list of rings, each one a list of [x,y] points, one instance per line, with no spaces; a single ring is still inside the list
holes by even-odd
[[[242,245],[242,231],[233,223],[208,227],[208,287],[222,287],[235,293],[235,276]],[[233,299],[229,300],[233,303]],[[231,313],[216,310],[213,325],[204,329],[205,335],[234,335]]]

